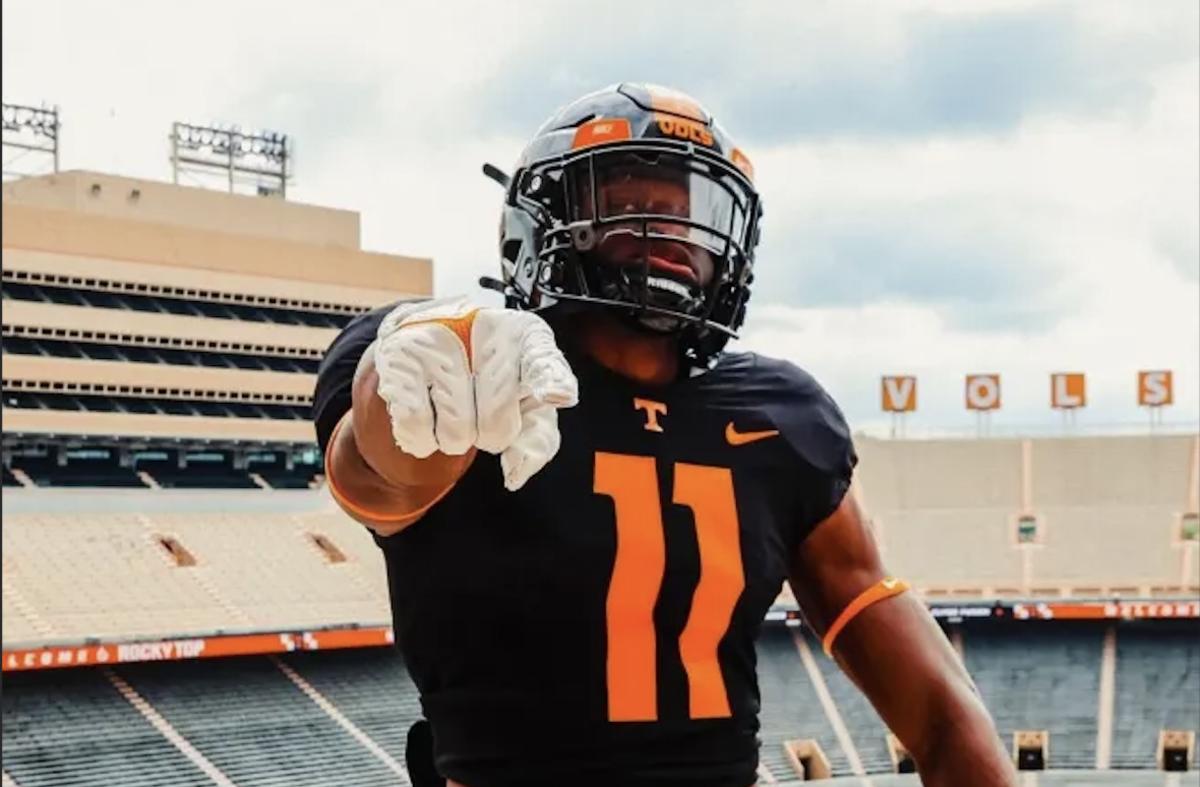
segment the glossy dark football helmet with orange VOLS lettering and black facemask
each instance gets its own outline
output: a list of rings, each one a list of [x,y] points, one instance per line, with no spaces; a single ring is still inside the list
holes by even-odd
[[[704,366],[737,335],[762,215],[746,156],[692,98],[623,83],[559,109],[526,146],[500,221],[522,310],[607,308],[680,336]]]

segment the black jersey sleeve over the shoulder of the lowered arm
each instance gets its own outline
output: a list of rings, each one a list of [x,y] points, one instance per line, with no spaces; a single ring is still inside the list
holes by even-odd
[[[793,364],[758,358],[768,377],[770,420],[797,463],[797,543],[833,513],[846,492],[858,455],[841,408],[816,379]]]

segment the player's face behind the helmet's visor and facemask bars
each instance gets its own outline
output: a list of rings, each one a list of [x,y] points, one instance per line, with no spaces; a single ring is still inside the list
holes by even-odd
[[[581,194],[590,203],[589,194]],[[662,221],[650,221],[647,230],[653,235],[686,239],[685,224],[671,218],[691,218],[691,193],[683,175],[638,162],[613,164],[596,184],[599,210],[594,215],[624,216],[652,214]],[[590,214],[590,205],[584,205]],[[695,244],[667,238],[641,238],[641,222],[618,222],[611,226],[596,245],[598,256],[611,265],[641,265],[643,256],[650,269],[660,276],[695,287],[707,287],[713,281],[713,256]]]

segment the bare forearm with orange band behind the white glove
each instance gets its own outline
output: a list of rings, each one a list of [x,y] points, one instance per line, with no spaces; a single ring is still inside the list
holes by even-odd
[[[391,535],[440,499],[470,467],[475,451],[424,459],[404,453],[391,438],[377,385],[373,366],[365,365],[355,378],[352,410],[329,445],[329,477],[342,510],[379,535]]]

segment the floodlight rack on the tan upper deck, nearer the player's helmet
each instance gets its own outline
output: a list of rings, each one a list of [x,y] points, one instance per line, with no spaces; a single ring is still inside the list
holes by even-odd
[[[252,184],[260,197],[286,198],[292,158],[292,139],[275,131],[178,121],[170,128],[170,169],[176,184],[181,174],[220,175],[229,193],[240,184]]]

